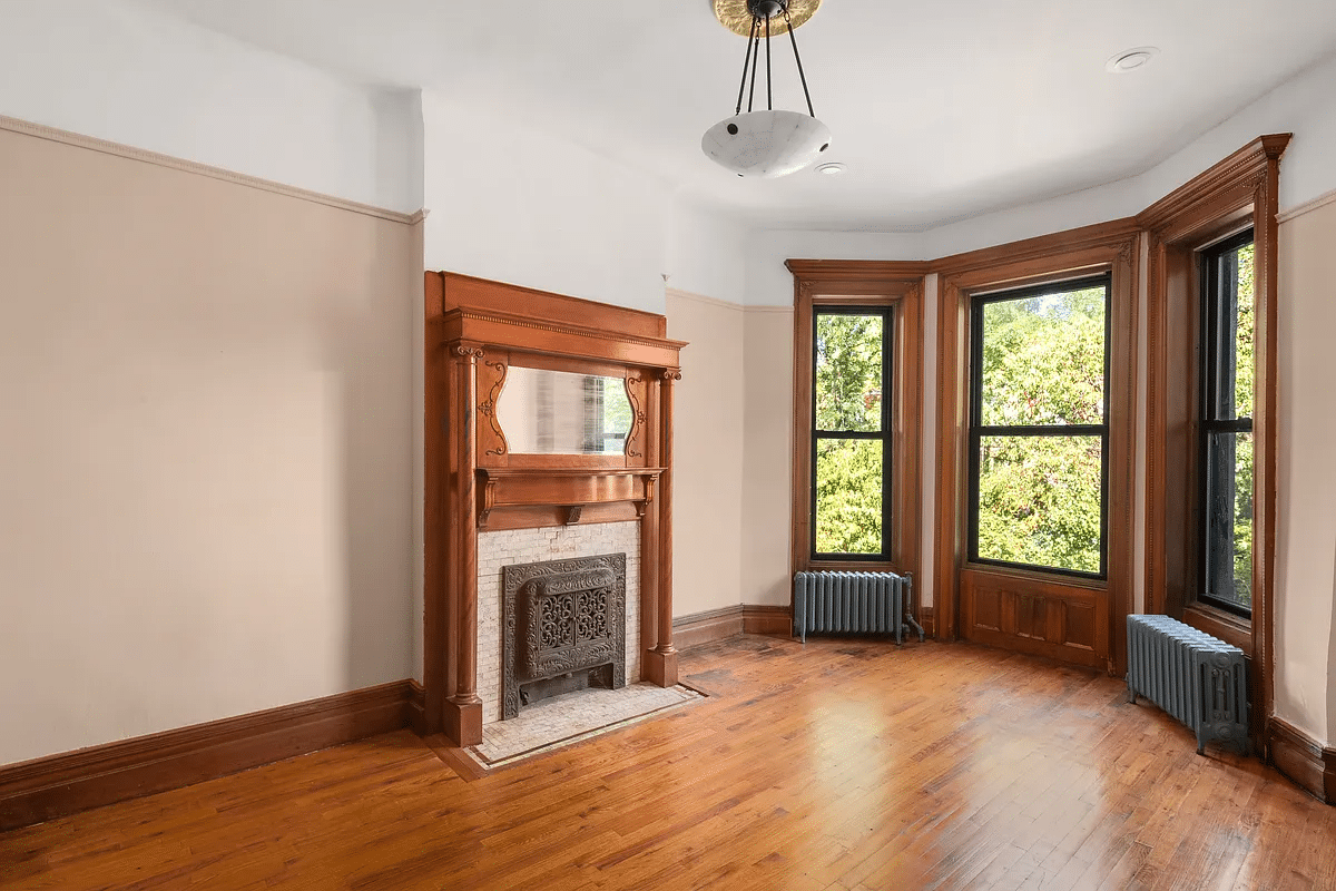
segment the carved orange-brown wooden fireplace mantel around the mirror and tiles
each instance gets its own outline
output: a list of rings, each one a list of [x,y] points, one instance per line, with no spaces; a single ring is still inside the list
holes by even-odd
[[[673,385],[667,319],[453,273],[425,279],[425,725],[482,740],[478,532],[639,521],[645,680],[677,683],[672,644]],[[623,454],[513,454],[497,403],[512,367],[620,377]]]

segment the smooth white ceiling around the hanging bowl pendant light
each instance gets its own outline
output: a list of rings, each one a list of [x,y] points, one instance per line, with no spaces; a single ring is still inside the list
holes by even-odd
[[[925,230],[1132,176],[1336,51],[1332,0],[828,0],[800,28],[824,160],[739,179],[700,151],[745,39],[711,0],[140,0],[358,80],[469,95],[778,228]],[[1144,69],[1114,53],[1154,45]],[[776,107],[800,110],[776,43]]]

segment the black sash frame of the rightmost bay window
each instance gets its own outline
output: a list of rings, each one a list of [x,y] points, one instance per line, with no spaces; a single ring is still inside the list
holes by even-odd
[[[1210,522],[1210,497],[1212,497],[1212,480],[1210,480],[1210,443],[1213,437],[1220,434],[1238,434],[1238,433],[1253,433],[1253,418],[1218,418],[1214,417],[1218,413],[1220,405],[1220,373],[1221,373],[1221,346],[1222,335],[1225,331],[1221,330],[1222,309],[1225,302],[1225,291],[1222,290],[1222,263],[1220,262],[1225,254],[1237,251],[1240,247],[1246,244],[1256,244],[1255,230],[1252,226],[1224,238],[1213,244],[1209,244],[1198,251],[1198,263],[1201,273],[1201,303],[1198,307],[1201,319],[1200,333],[1198,333],[1198,355],[1201,357],[1201,365],[1198,369],[1198,409],[1197,409],[1197,510],[1201,521],[1197,524],[1197,585],[1196,585],[1196,600],[1198,604],[1221,609],[1226,613],[1240,616],[1242,618],[1252,618],[1252,606],[1244,606],[1236,601],[1226,600],[1224,597],[1217,597],[1208,590],[1208,580],[1212,577],[1208,564],[1210,562],[1210,556],[1213,549],[1210,548],[1212,537],[1212,522]],[[1256,254],[1255,254],[1256,263]],[[1256,271],[1256,266],[1253,267]],[[1238,299],[1238,281],[1237,273],[1230,277],[1229,287],[1232,289],[1230,305],[1237,307]],[[1253,283],[1256,289],[1256,281]],[[1256,290],[1255,290],[1256,299]],[[1236,315],[1237,318],[1237,315]],[[1256,319],[1255,319],[1256,325]],[[1230,327],[1230,333],[1234,333]],[[1256,338],[1256,329],[1255,329]],[[1237,361],[1233,354],[1233,345],[1236,342],[1234,337],[1228,338],[1230,345],[1232,361]],[[1256,353],[1255,353],[1256,361]],[[1253,374],[1256,374],[1256,367],[1253,367]],[[1256,407],[1255,407],[1256,413]],[[1253,442],[1253,449],[1256,454],[1256,441]],[[1256,470],[1255,470],[1256,473]],[[1253,477],[1256,481],[1256,476]],[[1233,489],[1230,489],[1233,492]],[[1256,512],[1256,492],[1253,493],[1253,510]],[[1230,516],[1232,516],[1230,510]],[[1253,520],[1253,528],[1256,530],[1256,514]],[[1233,552],[1233,538],[1229,540],[1229,553]],[[1257,560],[1256,542],[1253,546],[1253,565]],[[1233,572],[1230,570],[1229,577],[1233,578]],[[1249,604],[1252,602],[1250,585],[1249,585]]]

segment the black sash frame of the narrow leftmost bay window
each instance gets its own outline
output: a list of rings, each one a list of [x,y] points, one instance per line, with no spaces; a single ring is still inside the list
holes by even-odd
[[[892,394],[895,381],[895,314],[894,306],[868,305],[834,305],[820,303],[812,307],[812,379],[811,379],[811,464],[808,466],[807,481],[810,490],[808,521],[811,534],[807,542],[808,560],[816,561],[856,561],[856,562],[887,562],[891,560],[891,522],[894,521],[894,430],[892,430]],[[820,342],[820,318],[823,315],[876,315],[882,318],[882,418],[880,430],[822,430],[816,425],[816,369],[818,343]],[[879,439],[882,442],[882,546],[872,554],[827,552],[816,549],[816,512],[819,500],[816,496],[816,461],[818,445],[822,439]]]

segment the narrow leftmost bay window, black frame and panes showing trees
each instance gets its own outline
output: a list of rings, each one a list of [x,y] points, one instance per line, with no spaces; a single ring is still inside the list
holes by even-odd
[[[814,558],[886,560],[891,337],[886,307],[820,307],[812,337]]]

